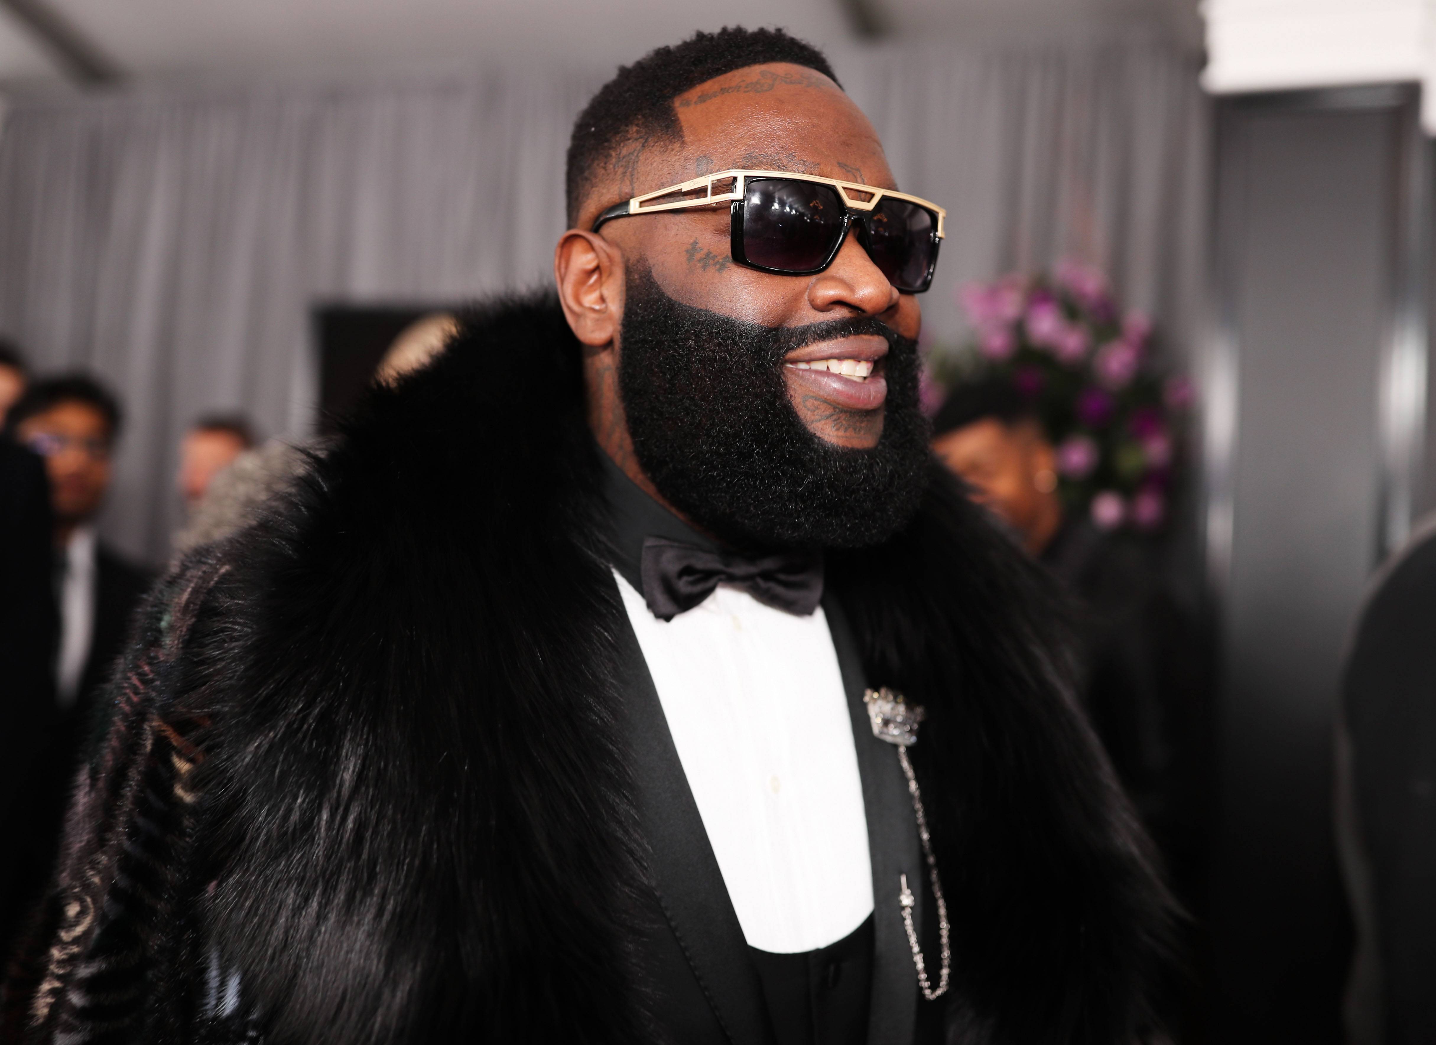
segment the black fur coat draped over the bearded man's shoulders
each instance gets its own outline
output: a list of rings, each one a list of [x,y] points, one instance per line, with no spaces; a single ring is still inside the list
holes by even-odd
[[[270,515],[152,594],[6,1036],[653,1039],[577,346],[475,313]],[[913,761],[952,920],[949,1041],[1147,1036],[1167,900],[1071,698],[1050,591],[933,469],[831,554]]]

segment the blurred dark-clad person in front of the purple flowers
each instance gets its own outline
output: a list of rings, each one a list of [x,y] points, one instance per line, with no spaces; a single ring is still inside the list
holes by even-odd
[[[1011,382],[954,388],[933,418],[932,446],[1076,597],[1087,713],[1179,891],[1200,906],[1213,784],[1192,614],[1150,548],[1066,511],[1055,448]]]

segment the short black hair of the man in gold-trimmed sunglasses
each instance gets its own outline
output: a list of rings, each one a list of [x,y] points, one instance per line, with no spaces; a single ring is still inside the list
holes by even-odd
[[[564,172],[569,224],[579,220],[592,172],[609,161],[625,139],[684,139],[675,98],[735,69],[768,62],[806,66],[837,83],[823,52],[781,29],[728,26],[717,33],[699,32],[682,43],[651,50],[630,66],[619,66],[617,75],[599,89],[573,123]]]

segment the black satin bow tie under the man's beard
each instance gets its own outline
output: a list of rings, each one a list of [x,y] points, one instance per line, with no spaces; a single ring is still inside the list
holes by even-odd
[[[643,599],[659,620],[694,609],[719,584],[742,589],[760,603],[803,617],[823,597],[823,558],[814,554],[747,558],[645,537],[642,576]]]

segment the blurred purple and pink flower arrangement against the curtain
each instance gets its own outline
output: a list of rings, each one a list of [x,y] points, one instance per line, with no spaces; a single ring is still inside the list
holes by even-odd
[[[974,283],[958,299],[975,332],[958,379],[1007,378],[1032,405],[1057,448],[1067,510],[1103,530],[1160,530],[1192,386],[1153,366],[1146,316],[1123,314],[1103,274],[1071,263],[1051,276]],[[955,375],[943,376],[929,388]]]

